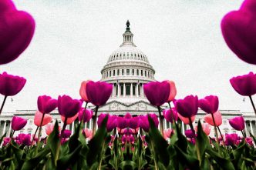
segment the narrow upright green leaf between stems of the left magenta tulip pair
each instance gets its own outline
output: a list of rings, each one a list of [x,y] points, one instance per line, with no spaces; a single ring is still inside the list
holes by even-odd
[[[59,142],[59,124],[58,121],[56,121],[53,132],[49,135],[47,140],[47,146],[49,146],[52,151],[53,160],[56,158],[56,150],[58,148]]]

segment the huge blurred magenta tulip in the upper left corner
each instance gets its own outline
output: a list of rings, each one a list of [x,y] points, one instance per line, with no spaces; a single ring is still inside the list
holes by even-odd
[[[18,11],[11,0],[0,1],[0,65],[12,62],[29,46],[35,21],[27,12]]]

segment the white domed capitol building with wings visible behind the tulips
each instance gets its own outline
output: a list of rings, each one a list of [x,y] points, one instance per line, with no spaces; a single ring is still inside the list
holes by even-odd
[[[113,85],[113,92],[106,105],[99,108],[99,113],[108,112],[113,115],[125,115],[130,112],[131,115],[142,115],[154,112],[158,115],[158,110],[155,106],[150,105],[146,96],[143,93],[143,85],[147,82],[156,81],[154,75],[155,70],[150,65],[149,58],[145,55],[133,42],[133,33],[130,30],[130,22],[126,22],[126,31],[123,33],[123,43],[107,58],[106,65],[101,70],[101,81],[108,82]],[[169,77],[167,77],[169,79]],[[94,108],[89,105],[89,108]],[[163,105],[162,108],[168,108]],[[240,112],[239,110],[220,110],[222,114],[223,123],[220,126],[221,132],[237,133],[228,123],[229,118],[234,116],[243,115],[245,121],[246,135],[251,132],[256,135],[256,118],[254,112]],[[35,133],[36,126],[34,125],[35,110],[17,110],[16,112],[3,112],[0,115],[0,136],[10,135],[11,121],[14,115],[22,116],[28,119],[27,125],[19,133]],[[58,111],[55,110],[51,113],[52,122],[56,120],[61,125],[61,119]],[[99,114],[98,114],[99,115]],[[200,119],[204,122],[205,113],[201,110],[198,111],[194,125],[197,125]],[[87,128],[92,128],[92,122],[86,123]],[[171,128],[169,122],[163,120],[163,128]],[[73,125],[68,125],[67,128],[73,131]],[[182,124],[182,131],[188,128],[188,125]],[[212,137],[214,137],[214,128],[211,129]],[[42,136],[45,136],[45,131],[42,130]]]

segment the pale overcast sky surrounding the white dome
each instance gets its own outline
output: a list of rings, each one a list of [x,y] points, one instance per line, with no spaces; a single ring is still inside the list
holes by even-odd
[[[220,109],[253,112],[229,79],[254,71],[227,47],[221,18],[241,0],[14,0],[36,22],[29,48],[0,72],[27,79],[3,112],[37,108],[39,95],[79,97],[83,80],[98,81],[109,55],[123,42],[126,20],[158,81],[173,80],[177,98],[217,95]],[[256,98],[254,98],[255,100]],[[3,97],[0,98],[2,102]]]

